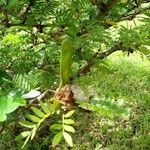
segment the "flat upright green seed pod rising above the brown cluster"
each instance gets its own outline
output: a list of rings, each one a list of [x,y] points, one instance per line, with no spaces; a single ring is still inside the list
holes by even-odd
[[[60,51],[60,88],[69,82],[69,76],[72,65],[73,45],[68,39],[62,41]]]

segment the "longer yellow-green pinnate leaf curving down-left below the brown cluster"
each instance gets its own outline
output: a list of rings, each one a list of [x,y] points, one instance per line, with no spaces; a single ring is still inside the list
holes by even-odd
[[[40,103],[40,108],[32,107],[34,114],[27,114],[26,119],[20,121],[21,126],[27,127],[28,131],[22,132],[16,140],[21,140],[26,138],[22,148],[27,144],[29,139],[33,139],[40,125],[60,108],[59,101],[56,99],[49,100],[45,103]]]

